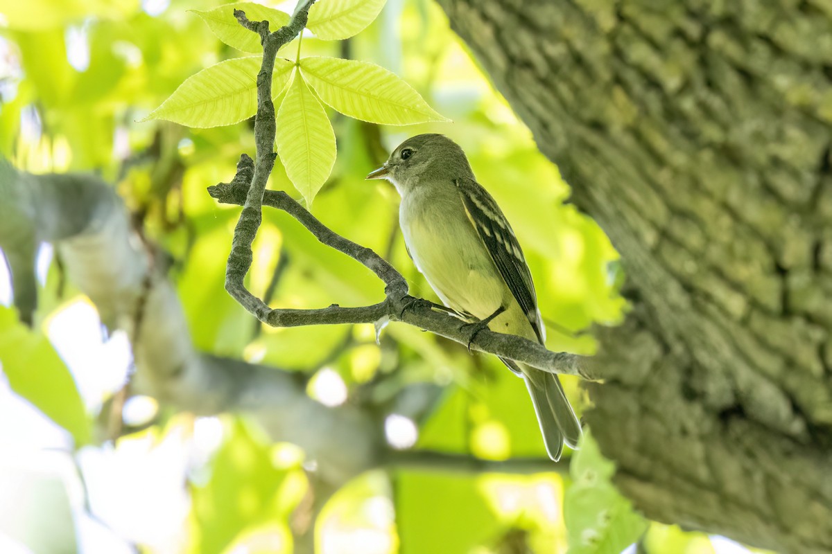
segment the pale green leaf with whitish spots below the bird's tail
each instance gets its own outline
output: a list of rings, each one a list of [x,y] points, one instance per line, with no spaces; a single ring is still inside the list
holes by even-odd
[[[613,486],[615,464],[588,431],[569,470],[573,483],[563,499],[569,554],[619,554],[636,542],[646,522]]]

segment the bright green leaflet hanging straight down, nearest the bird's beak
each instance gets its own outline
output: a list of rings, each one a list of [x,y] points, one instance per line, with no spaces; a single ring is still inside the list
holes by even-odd
[[[320,105],[300,74],[286,92],[277,113],[277,153],[295,188],[312,205],[314,195],[335,163],[335,134]]]

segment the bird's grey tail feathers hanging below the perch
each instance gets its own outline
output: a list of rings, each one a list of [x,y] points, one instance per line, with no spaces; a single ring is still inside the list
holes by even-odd
[[[577,448],[582,434],[581,422],[572,411],[557,375],[518,365],[528,394],[532,397],[546,451],[549,458],[557,462],[563,452],[563,443],[572,449]]]

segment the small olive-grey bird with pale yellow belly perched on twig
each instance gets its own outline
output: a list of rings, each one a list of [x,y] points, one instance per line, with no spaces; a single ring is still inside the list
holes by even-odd
[[[366,179],[399,192],[404,244],[445,306],[470,325],[544,344],[546,329],[522,248],[503,211],[445,135],[405,140]],[[525,381],[549,458],[577,449],[581,423],[557,375],[500,358]]]

